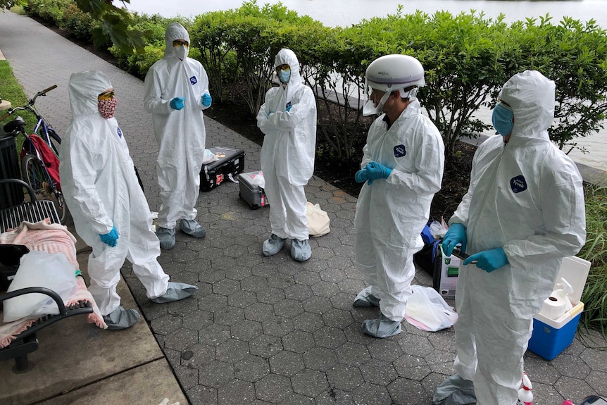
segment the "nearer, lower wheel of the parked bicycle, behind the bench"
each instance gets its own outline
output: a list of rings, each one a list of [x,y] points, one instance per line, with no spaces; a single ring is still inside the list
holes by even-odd
[[[58,191],[55,182],[46,172],[44,163],[37,156],[27,154],[21,161],[21,171],[23,179],[32,186],[36,195],[42,195],[43,199],[53,201],[59,222],[61,225],[65,225],[69,218],[68,207],[65,205],[63,194]]]

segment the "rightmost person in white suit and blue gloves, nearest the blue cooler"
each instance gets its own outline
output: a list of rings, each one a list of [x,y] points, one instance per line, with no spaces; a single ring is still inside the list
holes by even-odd
[[[470,186],[443,239],[470,254],[458,277],[458,374],[434,403],[515,405],[533,317],[564,256],[584,246],[582,177],[550,141],[555,85],[525,70],[506,82],[492,121],[501,136],[477,149]],[[465,396],[463,393],[468,392]]]

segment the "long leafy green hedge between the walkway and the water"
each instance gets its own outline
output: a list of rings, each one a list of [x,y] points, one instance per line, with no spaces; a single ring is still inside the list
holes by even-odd
[[[87,37],[96,28],[73,0],[29,4],[30,13],[54,20],[77,37]],[[125,70],[145,75],[163,55],[165,27],[178,20],[189,30],[189,55],[204,64],[214,99],[239,97],[252,116],[272,85],[274,55],[284,46],[293,49],[304,79],[318,91],[318,106],[325,112],[319,116],[327,117],[319,121],[319,134],[331,145],[330,153],[346,161],[358,156],[353,137],[368,125],[359,108],[365,68],[384,54],[410,54],[423,64],[427,87],[418,96],[442,132],[448,163],[456,157],[461,135],[489,128],[474,114],[481,106],[493,106],[501,85],[522,70],[539,70],[556,82],[556,120],[549,133],[566,152],[576,146],[577,137],[603,127],[607,110],[607,35],[593,20],[582,23],[565,17],[553,25],[546,15],[508,25],[503,15],[403,14],[400,7],[385,18],[325,27],[282,4],[260,7],[256,1],[194,20],[138,14],[133,18],[134,27],[148,34],[148,44],[144,53],[110,48]]]

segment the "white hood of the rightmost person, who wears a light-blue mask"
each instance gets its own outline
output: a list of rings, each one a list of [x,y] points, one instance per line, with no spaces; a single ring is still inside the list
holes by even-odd
[[[537,70],[525,70],[506,82],[499,99],[514,113],[512,140],[515,138],[549,140],[548,128],[554,119],[556,86]]]

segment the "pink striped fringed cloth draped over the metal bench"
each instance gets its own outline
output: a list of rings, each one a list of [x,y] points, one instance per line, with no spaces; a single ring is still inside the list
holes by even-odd
[[[78,270],[80,265],[76,260],[76,238],[63,225],[51,224],[49,218],[38,223],[23,222],[15,230],[10,230],[0,234],[0,244],[23,244],[30,250],[46,251],[46,253],[63,253],[68,261]],[[93,296],[87,289],[85,280],[82,276],[76,277],[78,288],[68,301],[65,301],[65,306],[70,306],[78,301],[90,302],[93,307],[93,313],[87,314],[87,323],[94,323],[101,329],[106,329],[108,326],[104,322],[103,316]],[[11,323],[0,323],[0,349],[8,346],[27,328],[35,323],[37,318],[20,319]]]

